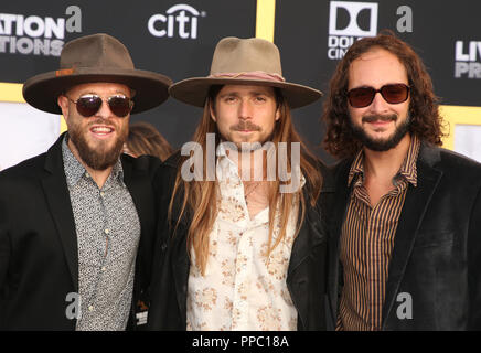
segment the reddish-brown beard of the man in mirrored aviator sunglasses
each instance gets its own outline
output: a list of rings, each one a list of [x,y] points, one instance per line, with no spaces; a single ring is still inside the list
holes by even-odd
[[[108,126],[106,121],[103,119],[98,119],[88,125],[87,129],[90,125],[94,124],[103,124]],[[108,147],[109,141],[98,141],[95,148],[92,148],[88,145],[86,139],[86,135],[88,132],[84,132],[82,126],[79,124],[73,124],[68,127],[68,138],[74,143],[75,148],[78,151],[78,154],[83,162],[87,164],[93,170],[106,170],[107,168],[114,165],[124,148],[124,143],[127,140],[128,129],[116,129],[119,132],[118,138],[116,139],[113,147]]]

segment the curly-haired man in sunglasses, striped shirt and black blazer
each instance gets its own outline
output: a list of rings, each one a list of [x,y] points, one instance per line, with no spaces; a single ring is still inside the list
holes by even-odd
[[[336,330],[481,329],[481,164],[440,148],[421,60],[392,33],[355,42],[324,103],[335,164]]]

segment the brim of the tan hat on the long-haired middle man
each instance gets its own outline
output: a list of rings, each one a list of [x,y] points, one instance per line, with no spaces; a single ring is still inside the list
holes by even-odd
[[[278,87],[282,90],[284,97],[291,109],[300,108],[314,103],[322,97],[322,92],[298,84],[276,82],[267,79],[244,79],[244,78],[211,78],[193,77],[180,81],[169,88],[169,94],[183,103],[203,107],[209,88],[212,85],[258,85]]]

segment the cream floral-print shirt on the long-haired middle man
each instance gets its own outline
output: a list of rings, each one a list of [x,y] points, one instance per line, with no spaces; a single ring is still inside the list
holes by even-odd
[[[217,158],[216,174],[220,210],[204,276],[191,250],[188,330],[297,330],[286,277],[298,208],[292,207],[284,240],[267,257],[269,208],[250,218],[237,164],[225,150]],[[279,235],[280,216],[277,213],[272,240]]]

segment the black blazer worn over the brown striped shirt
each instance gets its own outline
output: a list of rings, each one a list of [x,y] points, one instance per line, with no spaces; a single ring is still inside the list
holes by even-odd
[[[351,189],[351,160],[334,168],[335,204],[329,242],[330,329],[342,268],[339,237]],[[416,188],[409,184],[395,235],[383,306],[383,330],[481,330],[481,164],[421,145]],[[411,302],[411,319],[406,318]]]

